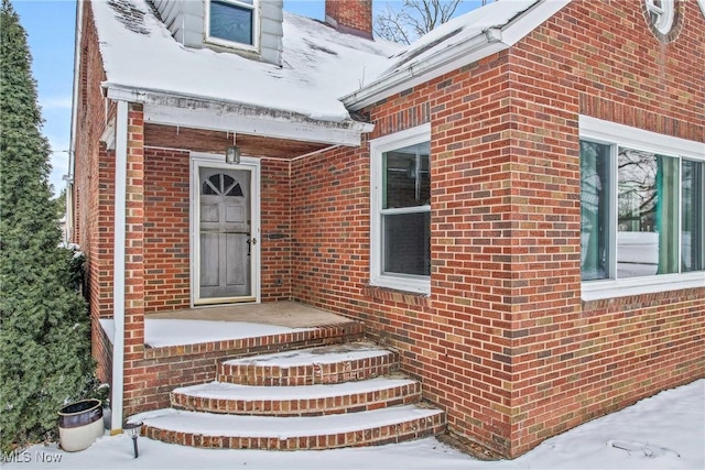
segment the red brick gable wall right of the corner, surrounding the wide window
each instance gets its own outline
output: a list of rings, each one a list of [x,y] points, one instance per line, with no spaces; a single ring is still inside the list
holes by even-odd
[[[518,240],[529,249],[517,259],[527,267],[514,273],[522,302],[512,315],[511,455],[705,374],[705,288],[581,302],[577,309],[572,297],[579,289],[575,114],[705,140],[697,72],[705,22],[695,2],[679,7],[684,22],[668,45],[647,26],[641,2],[625,0],[573,2],[512,48],[513,121],[525,151],[517,179],[531,209]],[[546,237],[553,240],[543,249]],[[531,264],[534,255],[551,261]]]

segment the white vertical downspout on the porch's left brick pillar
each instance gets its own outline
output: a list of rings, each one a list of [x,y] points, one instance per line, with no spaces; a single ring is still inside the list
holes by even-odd
[[[115,253],[112,274],[112,413],[110,434],[122,433],[124,385],[124,225],[128,172],[128,102],[118,101],[115,130]]]

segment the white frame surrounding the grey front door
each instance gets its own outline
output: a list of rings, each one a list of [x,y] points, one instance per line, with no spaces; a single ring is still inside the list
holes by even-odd
[[[191,179],[191,204],[189,204],[189,245],[191,245],[191,306],[206,307],[224,304],[237,303],[257,303],[261,302],[260,286],[260,245],[261,245],[261,226],[260,226],[260,159],[251,156],[242,156],[240,163],[232,165],[225,163],[221,154],[210,153],[191,153],[189,179]],[[251,237],[257,240],[252,243],[250,251],[250,276],[252,295],[248,297],[223,297],[215,299],[200,298],[200,184],[199,168],[219,168],[219,170],[241,170],[250,172],[250,227]]]

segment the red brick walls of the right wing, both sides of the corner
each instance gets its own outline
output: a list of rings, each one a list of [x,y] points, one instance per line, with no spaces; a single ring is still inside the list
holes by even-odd
[[[510,52],[368,111],[432,124],[432,293],[369,287],[369,146],[292,166],[294,297],[401,350],[451,430],[516,457],[705,375],[705,288],[581,299],[578,114],[703,141],[705,24],[660,45],[639,2],[573,2]],[[698,58],[699,57],[699,58]]]

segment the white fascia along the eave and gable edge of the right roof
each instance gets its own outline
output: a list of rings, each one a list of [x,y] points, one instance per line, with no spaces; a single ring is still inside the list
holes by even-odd
[[[359,110],[397,92],[421,85],[448,72],[505,51],[572,0],[541,0],[502,28],[490,28],[454,47],[448,47],[422,64],[411,65],[386,75],[367,87],[340,98],[346,108]],[[705,1],[705,0],[704,0]]]

